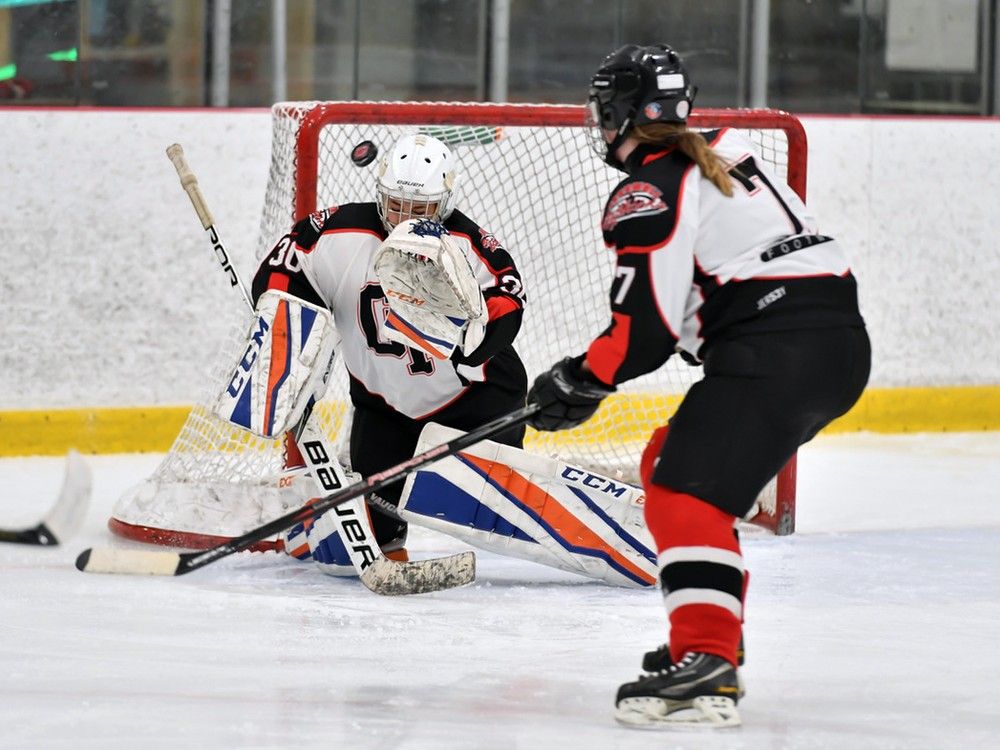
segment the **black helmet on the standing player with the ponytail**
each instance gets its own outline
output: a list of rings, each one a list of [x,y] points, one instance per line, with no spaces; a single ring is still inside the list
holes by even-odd
[[[614,153],[629,131],[654,122],[686,122],[697,91],[681,56],[666,44],[626,44],[612,52],[590,79],[593,124],[617,131],[610,144],[600,138],[599,153],[621,169]]]

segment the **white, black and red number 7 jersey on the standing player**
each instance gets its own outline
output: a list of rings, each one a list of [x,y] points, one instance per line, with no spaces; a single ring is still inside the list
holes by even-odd
[[[617,256],[611,324],[587,362],[618,384],[720,337],[863,325],[847,256],[736,130],[704,134],[729,165],[725,196],[678,149],[642,144],[602,217]]]

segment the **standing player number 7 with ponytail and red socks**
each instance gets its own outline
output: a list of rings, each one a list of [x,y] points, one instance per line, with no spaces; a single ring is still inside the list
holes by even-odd
[[[595,147],[626,174],[604,209],[617,256],[611,324],[540,375],[533,426],[589,419],[617,384],[674,353],[701,361],[643,453],[646,522],[670,621],[669,658],[621,686],[627,725],[739,724],[747,580],[735,522],[868,379],[847,256],[733,130],[687,130],[695,87],[665,45],[627,45],[591,80]]]

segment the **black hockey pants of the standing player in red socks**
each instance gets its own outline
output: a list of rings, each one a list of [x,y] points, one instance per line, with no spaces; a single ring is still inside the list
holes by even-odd
[[[743,516],[798,447],[855,404],[870,367],[861,327],[714,344],[670,420],[653,483]]]

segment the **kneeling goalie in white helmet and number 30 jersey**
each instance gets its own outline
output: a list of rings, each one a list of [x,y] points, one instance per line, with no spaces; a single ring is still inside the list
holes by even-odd
[[[512,346],[521,277],[500,242],[456,208],[457,183],[445,144],[404,136],[379,164],[374,202],[302,219],[254,278],[255,302],[279,290],[332,311],[354,406],[351,468],[365,477],[413,456],[430,420],[469,430],[524,404],[527,376]],[[514,428],[498,440],[520,446],[523,435]],[[381,499],[398,505],[401,489]],[[383,552],[406,559],[407,524],[377,507],[371,521]],[[286,549],[353,574],[336,534],[312,530],[293,530]]]

